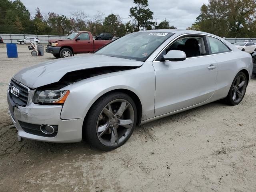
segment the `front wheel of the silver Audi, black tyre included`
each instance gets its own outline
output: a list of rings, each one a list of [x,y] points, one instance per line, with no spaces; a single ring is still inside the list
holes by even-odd
[[[132,98],[114,92],[93,104],[84,122],[84,134],[93,147],[110,151],[130,138],[136,121],[137,109]]]

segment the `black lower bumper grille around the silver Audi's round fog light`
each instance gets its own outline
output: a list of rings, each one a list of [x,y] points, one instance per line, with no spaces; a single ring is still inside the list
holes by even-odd
[[[44,134],[40,130],[41,125],[26,123],[26,122],[22,122],[22,121],[19,121],[19,124],[20,124],[21,128],[24,130],[24,132],[33,134],[33,135],[38,135],[38,136],[43,136],[43,137],[55,137],[58,133],[58,125],[52,125],[55,132],[53,134],[48,135],[48,134]]]

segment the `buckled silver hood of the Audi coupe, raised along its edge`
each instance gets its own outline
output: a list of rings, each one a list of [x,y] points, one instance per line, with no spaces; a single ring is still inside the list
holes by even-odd
[[[104,66],[136,67],[143,64],[144,62],[124,58],[89,54],[43,62],[21,70],[14,76],[14,79],[34,89],[58,82],[68,72]]]

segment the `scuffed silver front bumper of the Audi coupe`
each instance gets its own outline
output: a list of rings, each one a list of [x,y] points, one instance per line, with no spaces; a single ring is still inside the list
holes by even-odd
[[[62,105],[17,106],[8,94],[8,107],[12,122],[18,130],[18,136],[46,142],[80,142],[84,118],[62,120]],[[47,135],[40,130],[41,125],[54,126],[56,132]]]

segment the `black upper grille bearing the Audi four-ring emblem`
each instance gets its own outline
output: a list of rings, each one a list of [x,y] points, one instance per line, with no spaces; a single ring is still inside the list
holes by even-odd
[[[26,106],[28,103],[28,88],[20,84],[18,81],[12,79],[8,89],[10,97],[16,104]],[[19,93],[13,94],[12,89],[18,90]]]

